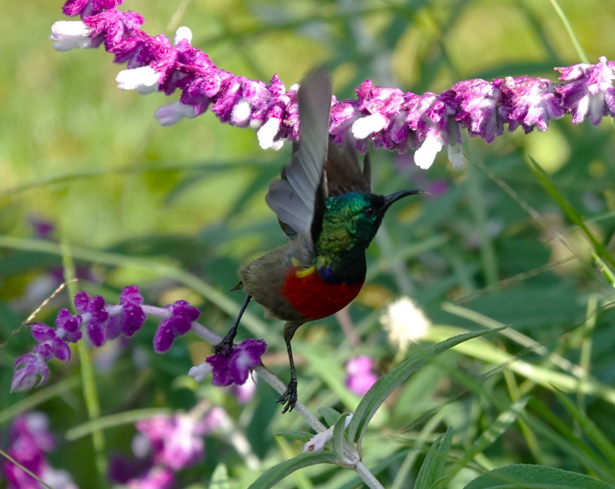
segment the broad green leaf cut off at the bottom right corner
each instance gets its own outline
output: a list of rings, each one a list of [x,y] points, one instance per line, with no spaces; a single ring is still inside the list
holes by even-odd
[[[589,475],[542,465],[509,465],[486,472],[464,489],[614,489]]]

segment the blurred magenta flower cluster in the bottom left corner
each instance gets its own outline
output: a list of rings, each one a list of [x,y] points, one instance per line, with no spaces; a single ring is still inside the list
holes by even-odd
[[[55,448],[55,439],[48,429],[48,423],[43,413],[19,415],[10,426],[7,453],[48,486],[77,489],[68,472],[54,469],[47,461],[47,453]],[[2,472],[7,489],[42,487],[34,477],[10,460],[4,461]]]

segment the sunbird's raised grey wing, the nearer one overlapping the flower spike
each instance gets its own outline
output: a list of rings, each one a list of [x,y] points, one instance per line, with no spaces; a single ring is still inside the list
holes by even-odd
[[[299,233],[312,243],[320,233],[326,197],[322,168],[329,143],[331,95],[331,79],[324,68],[303,80],[298,92],[299,144],[282,178],[271,182],[265,197],[289,237]]]

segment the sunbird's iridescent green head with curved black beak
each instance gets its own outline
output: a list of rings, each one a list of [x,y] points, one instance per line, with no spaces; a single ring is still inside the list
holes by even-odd
[[[319,253],[365,250],[389,206],[402,197],[420,193],[421,190],[402,190],[391,195],[349,192],[327,197],[317,244]]]

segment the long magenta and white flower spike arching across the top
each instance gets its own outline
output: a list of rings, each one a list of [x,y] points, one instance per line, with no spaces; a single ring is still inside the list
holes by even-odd
[[[191,47],[191,31],[178,29],[172,44],[163,35],[141,31],[143,18],[117,10],[121,0],[68,0],[64,13],[82,22],[57,22],[52,36],[57,50],[94,48],[101,44],[116,63],[127,63],[117,76],[118,87],[169,95],[180,100],[156,112],[162,125],[196,117],[209,109],[221,120],[258,130],[263,148],[279,148],[284,139],[298,138],[296,87],[285,90],[274,75],[269,84],[217,68],[207,54]],[[593,124],[615,115],[615,62],[601,57],[596,65],[555,68],[558,82],[529,76],[488,82],[463,80],[440,94],[417,95],[399,88],[377,87],[370,80],[357,88],[357,100],[332,100],[330,134],[341,144],[351,141],[366,151],[375,147],[402,153],[416,150],[415,163],[428,168],[444,146],[453,166],[463,165],[461,129],[487,143],[522,127],[545,130],[564,114],[573,123],[586,117]]]

